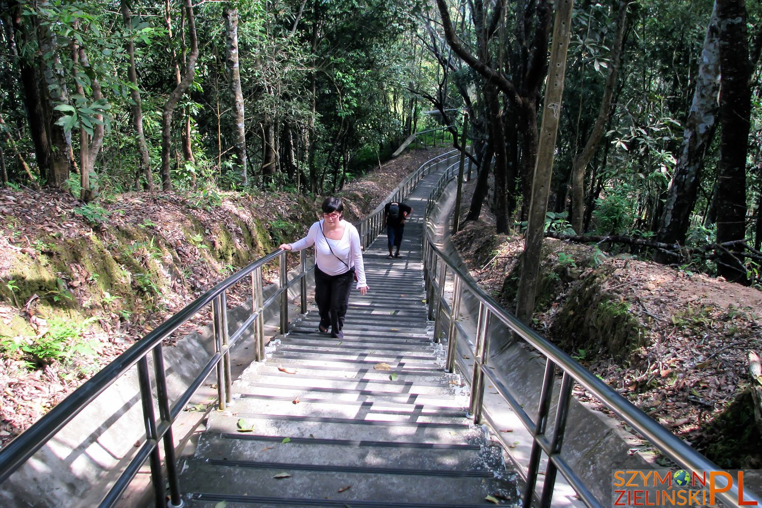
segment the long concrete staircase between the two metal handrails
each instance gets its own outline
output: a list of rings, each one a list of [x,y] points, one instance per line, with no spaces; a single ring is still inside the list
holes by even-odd
[[[320,333],[310,310],[235,382],[234,404],[211,414],[194,455],[181,458],[187,506],[518,503],[516,474],[466,418],[467,388],[443,372],[432,340],[420,247],[427,180],[405,201],[414,215],[402,257],[388,256],[386,235],[367,249],[370,291],[353,290],[344,338]]]

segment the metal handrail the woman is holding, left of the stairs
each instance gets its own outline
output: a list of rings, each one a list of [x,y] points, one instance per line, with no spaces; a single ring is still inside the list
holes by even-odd
[[[437,155],[424,162],[417,171],[406,178],[402,184],[399,184],[389,197],[376,207],[370,216],[357,225],[360,230],[363,248],[369,245],[383,230],[383,210],[386,203],[404,200],[415,185],[418,184],[418,181],[421,181],[421,178],[431,174],[431,171],[439,167],[443,161],[449,162],[450,158],[457,156],[457,153],[459,153],[457,150],[453,150],[442,155]],[[275,302],[279,302],[280,333],[286,334],[289,326],[287,292],[297,283],[299,284],[299,292],[301,294],[301,312],[306,312],[306,274],[309,270],[312,270],[314,265],[307,267],[305,251],[302,251],[300,254],[301,259],[298,273],[291,279],[288,278],[287,273],[286,251],[274,251],[255,260],[232,276],[227,277],[223,282],[186,305],[177,314],[172,315],[167,321],[158,325],[149,334],[137,340],[132,347],[121,353],[120,356],[117,356],[116,359],[101,369],[100,372],[73,391],[60,404],[57,404],[56,407],[53,407],[53,409],[41,417],[40,420],[37,420],[34,425],[25,430],[24,433],[21,433],[11,443],[8,443],[5,448],[0,449],[0,484],[8,480],[14,471],[21,468],[35,452],[45,446],[50,439],[53,439],[56,433],[88,407],[88,404],[91,404],[98,395],[101,395],[133,366],[137,366],[143,420],[146,424],[146,441],[139,446],[129,463],[123,466],[119,478],[117,478],[117,481],[115,481],[106,496],[101,500],[99,506],[114,506],[146,459],[149,459],[151,466],[152,486],[155,491],[157,508],[164,506],[165,484],[168,484],[169,490],[168,506],[183,506],[178,474],[174,468],[172,423],[174,423],[174,420],[186,407],[188,401],[191,400],[203,381],[215,369],[217,373],[218,407],[220,410],[225,409],[226,404],[230,403],[232,395],[230,350],[243,337],[245,331],[253,326],[255,359],[264,361],[263,327],[265,309],[270,308]],[[262,289],[262,268],[276,258],[280,261],[280,287],[265,301]],[[243,283],[247,277],[250,277],[251,280],[251,316],[236,331],[229,334],[227,322],[228,308],[226,303],[227,292],[237,284]],[[210,305],[212,306],[213,315],[214,353],[207,360],[207,363],[204,364],[195,379],[190,382],[188,388],[177,398],[174,405],[170,405],[162,343],[171,334],[178,331],[183,324]],[[148,361],[149,354],[153,357],[155,396],[152,393],[152,379]],[[158,419],[155,416],[154,404],[158,407]],[[158,443],[160,442],[163,442],[166,459],[166,478],[162,471],[162,461],[159,455]]]

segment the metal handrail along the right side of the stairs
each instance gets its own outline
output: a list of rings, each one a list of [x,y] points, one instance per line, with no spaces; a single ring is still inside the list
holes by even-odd
[[[434,200],[440,196],[444,187],[447,186],[453,177],[456,177],[456,171],[454,171],[454,168],[450,168],[442,175],[434,190],[431,191],[426,206],[427,215],[434,206]],[[457,212],[459,211],[456,210]],[[469,291],[479,302],[475,347],[472,350],[474,370],[471,382],[472,393],[469,416],[474,418],[475,423],[481,423],[484,388],[485,385],[491,385],[511,406],[511,409],[518,415],[523,426],[533,436],[530,463],[527,468],[526,489],[523,493],[523,506],[532,506],[531,502],[538,475],[540,452],[545,452],[549,462],[539,506],[550,506],[552,491],[555,487],[556,471],[562,473],[585,504],[588,506],[604,506],[604,503],[594,497],[591,490],[585,486],[584,481],[561,456],[568,404],[571,401],[571,385],[573,382],[581,385],[597,398],[601,404],[604,404],[604,406],[613,411],[614,414],[632,427],[636,433],[641,434],[645,439],[653,443],[664,455],[671,458],[681,468],[691,471],[722,471],[717,465],[709,461],[708,458],[690,448],[682,439],[677,438],[677,436],[674,436],[664,427],[661,427],[659,423],[617,393],[609,385],[598,379],[592,372],[577,363],[571,356],[559,349],[559,347],[550,343],[549,340],[537,334],[536,331],[533,331],[533,329],[502,308],[498,302],[495,302],[491,296],[475,283],[468,273],[461,270],[458,264],[437,247],[434,239],[431,237],[431,231],[427,228],[424,229],[426,229],[423,240],[424,280],[426,282],[429,316],[435,319],[434,333],[437,340],[440,339],[438,337],[440,334],[440,321],[443,321],[443,319],[449,320],[449,323],[445,323],[449,324],[447,360],[445,365],[450,372],[453,371],[456,341],[459,334],[463,333],[459,324],[456,323],[462,292],[464,290]],[[444,286],[448,274],[453,282],[452,299],[449,303],[444,296]],[[511,395],[509,389],[504,385],[504,380],[499,374],[495,373],[499,372],[498,369],[489,366],[490,327],[488,323],[491,318],[500,320],[514,334],[517,340],[523,340],[524,343],[533,347],[536,352],[543,355],[546,359],[543,389],[539,397],[536,419],[530,417],[523,410],[522,404]],[[548,439],[545,435],[545,430],[550,413],[556,369],[560,369],[562,372],[562,381],[558,395],[559,402],[555,411],[553,435]],[[720,485],[720,487],[723,487],[723,485]],[[719,499],[729,503],[729,506],[735,506],[735,503],[738,501],[738,487],[735,484],[728,491],[718,491],[716,494]],[[760,497],[751,492],[744,492],[744,499],[762,503]],[[610,500],[605,502],[610,503]]]

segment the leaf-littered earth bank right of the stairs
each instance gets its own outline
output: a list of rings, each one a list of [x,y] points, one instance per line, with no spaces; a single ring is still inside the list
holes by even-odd
[[[513,310],[523,238],[495,235],[487,208],[453,243],[479,284]],[[758,289],[544,241],[536,331],[723,468],[762,465],[748,367],[749,352],[762,353],[760,319]],[[579,388],[575,396],[592,400]]]

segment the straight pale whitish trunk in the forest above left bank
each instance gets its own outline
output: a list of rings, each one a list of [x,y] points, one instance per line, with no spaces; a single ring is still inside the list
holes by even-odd
[[[230,98],[233,104],[233,121],[235,126],[235,164],[241,174],[241,181],[248,186],[248,171],[246,171],[246,125],[241,90],[241,69],[238,51],[238,11],[226,5],[223,12],[225,17],[225,34],[227,41],[226,63],[229,75]]]

